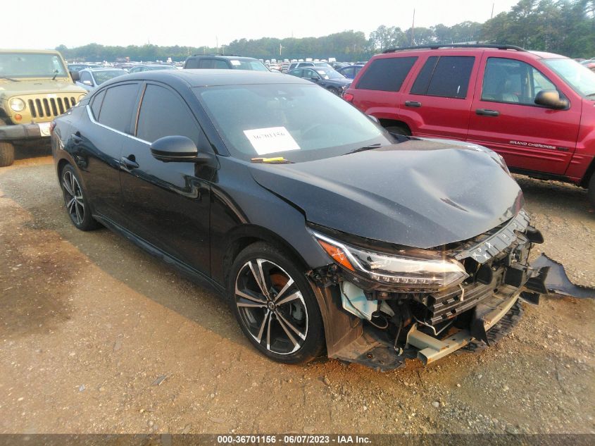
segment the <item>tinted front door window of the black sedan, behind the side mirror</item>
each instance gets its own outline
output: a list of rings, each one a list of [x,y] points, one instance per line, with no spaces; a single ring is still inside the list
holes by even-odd
[[[184,101],[174,92],[149,84],[143,95],[137,137],[154,142],[164,136],[180,135],[199,143],[199,127]]]

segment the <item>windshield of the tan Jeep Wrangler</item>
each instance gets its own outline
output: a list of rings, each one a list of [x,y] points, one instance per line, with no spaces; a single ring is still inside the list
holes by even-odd
[[[66,73],[56,54],[0,53],[0,78],[65,78]]]

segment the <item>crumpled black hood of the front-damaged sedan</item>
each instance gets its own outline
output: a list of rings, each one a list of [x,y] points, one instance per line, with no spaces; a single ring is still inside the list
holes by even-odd
[[[523,205],[498,156],[475,144],[411,140],[251,173],[311,223],[409,247],[475,237]]]

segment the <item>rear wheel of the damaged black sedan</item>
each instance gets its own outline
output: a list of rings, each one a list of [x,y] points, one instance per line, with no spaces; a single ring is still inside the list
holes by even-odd
[[[91,215],[89,200],[82,189],[82,182],[70,164],[66,165],[60,173],[60,185],[66,211],[73,225],[84,231],[99,228],[99,223]]]

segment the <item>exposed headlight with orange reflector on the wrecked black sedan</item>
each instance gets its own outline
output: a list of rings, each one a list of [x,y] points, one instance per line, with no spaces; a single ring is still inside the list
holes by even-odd
[[[384,254],[337,242],[319,233],[313,235],[337,264],[377,282],[420,291],[451,287],[468,278],[458,261],[422,249]]]

